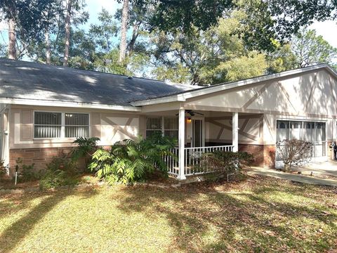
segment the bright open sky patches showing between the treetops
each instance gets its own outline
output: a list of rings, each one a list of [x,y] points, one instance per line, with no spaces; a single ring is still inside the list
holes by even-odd
[[[98,22],[98,13],[100,13],[102,8],[105,8],[110,13],[114,13],[117,8],[121,8],[121,4],[115,0],[86,0],[86,3],[86,10],[89,13],[88,24]],[[310,29],[315,29],[317,34],[322,35],[329,44],[337,48],[336,21],[314,22],[310,26]],[[4,37],[6,37],[7,25],[0,23],[0,30]],[[0,41],[1,40],[0,37]]]

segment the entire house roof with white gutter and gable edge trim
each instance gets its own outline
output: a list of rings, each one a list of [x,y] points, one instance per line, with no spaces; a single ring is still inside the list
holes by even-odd
[[[337,79],[336,72],[324,64],[200,88],[0,58],[0,103],[140,111],[143,105],[185,101],[319,69],[327,70]]]

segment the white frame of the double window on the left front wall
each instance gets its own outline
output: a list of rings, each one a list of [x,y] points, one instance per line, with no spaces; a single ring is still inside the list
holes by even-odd
[[[60,137],[35,137],[35,112],[49,112],[49,113],[60,113],[61,114],[61,136]],[[59,140],[59,139],[67,139],[67,140],[75,140],[76,137],[65,137],[65,115],[66,114],[83,114],[88,115],[88,137],[91,136],[91,115],[89,112],[71,112],[71,111],[50,111],[50,110],[34,110],[33,111],[33,129],[32,136],[33,140]]]

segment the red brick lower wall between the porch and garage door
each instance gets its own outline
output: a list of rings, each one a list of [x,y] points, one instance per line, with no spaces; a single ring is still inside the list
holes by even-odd
[[[239,151],[252,154],[254,166],[275,168],[275,145],[239,144]]]

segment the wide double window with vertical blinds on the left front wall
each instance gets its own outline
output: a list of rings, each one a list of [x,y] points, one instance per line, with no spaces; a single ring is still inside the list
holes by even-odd
[[[34,138],[89,136],[89,115],[70,112],[34,112]]]

